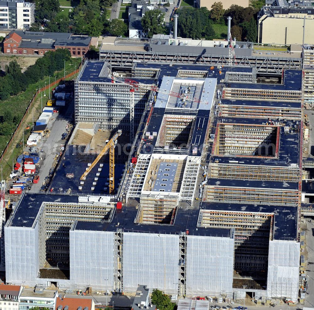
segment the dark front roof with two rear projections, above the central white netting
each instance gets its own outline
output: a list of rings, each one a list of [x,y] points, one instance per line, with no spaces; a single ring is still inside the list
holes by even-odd
[[[77,221],[73,223],[71,230],[116,231],[121,228],[124,232],[180,234],[188,229],[189,235],[230,237],[230,229],[228,228],[197,227],[198,209],[177,209],[174,225],[134,223],[137,213],[136,207],[123,206],[122,209],[115,210],[111,223]]]

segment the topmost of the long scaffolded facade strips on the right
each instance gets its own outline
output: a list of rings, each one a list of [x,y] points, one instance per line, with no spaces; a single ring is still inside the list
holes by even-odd
[[[228,88],[222,91],[222,99],[239,100],[266,100],[266,101],[288,101],[300,102],[301,91],[298,90],[271,90],[250,88]]]

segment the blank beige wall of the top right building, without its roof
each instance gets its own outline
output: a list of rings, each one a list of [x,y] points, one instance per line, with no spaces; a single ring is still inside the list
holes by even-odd
[[[263,44],[302,44],[303,23],[300,18],[262,17],[258,25],[258,42]],[[273,31],[276,29],[276,31]],[[314,20],[305,20],[305,44],[314,43]]]

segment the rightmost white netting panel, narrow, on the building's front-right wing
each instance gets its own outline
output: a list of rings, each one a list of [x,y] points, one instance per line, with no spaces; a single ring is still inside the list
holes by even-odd
[[[267,296],[298,299],[300,243],[269,241]]]

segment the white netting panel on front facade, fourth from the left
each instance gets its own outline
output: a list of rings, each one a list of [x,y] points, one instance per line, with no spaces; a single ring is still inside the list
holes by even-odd
[[[232,293],[231,238],[187,236],[187,295]]]

